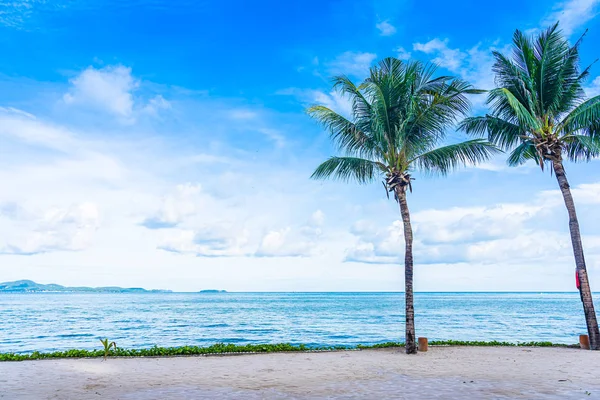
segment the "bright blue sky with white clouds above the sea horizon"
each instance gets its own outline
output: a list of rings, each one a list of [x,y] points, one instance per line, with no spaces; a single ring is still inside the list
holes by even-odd
[[[560,20],[600,57],[600,1],[0,2],[0,281],[174,290],[402,290],[378,184],[310,181],[304,114],[386,56],[493,85],[491,50]],[[600,67],[586,88],[600,94]],[[474,113],[485,111],[474,99]],[[449,140],[461,138],[449,132]],[[592,289],[599,161],[567,165]],[[417,176],[415,288],[573,290],[556,181],[502,157]]]

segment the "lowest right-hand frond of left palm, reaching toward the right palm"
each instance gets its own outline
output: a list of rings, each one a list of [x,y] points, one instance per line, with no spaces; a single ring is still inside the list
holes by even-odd
[[[411,160],[422,171],[446,175],[462,166],[475,165],[487,161],[501,150],[483,139],[473,139],[462,143],[438,147]]]

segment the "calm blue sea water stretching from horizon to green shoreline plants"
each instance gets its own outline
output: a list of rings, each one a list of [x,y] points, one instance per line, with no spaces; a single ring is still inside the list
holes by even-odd
[[[598,296],[595,295],[598,304]],[[577,293],[417,293],[417,336],[576,343]],[[0,352],[404,340],[403,293],[0,294]]]

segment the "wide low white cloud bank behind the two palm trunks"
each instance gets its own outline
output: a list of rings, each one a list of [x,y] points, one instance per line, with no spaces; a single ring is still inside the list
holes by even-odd
[[[573,189],[580,207],[600,204],[600,184]],[[568,233],[551,222],[566,213],[558,190],[542,191],[530,204],[506,203],[488,207],[430,209],[412,215],[414,257],[417,264],[504,265],[570,262]],[[562,218],[561,218],[562,222]],[[368,220],[357,221],[350,232],[356,237],[345,261],[371,264],[402,263],[402,221],[379,228]],[[585,235],[586,251],[600,251],[600,236]]]

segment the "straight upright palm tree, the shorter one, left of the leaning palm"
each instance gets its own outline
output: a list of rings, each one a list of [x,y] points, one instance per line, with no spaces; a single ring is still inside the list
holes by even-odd
[[[416,353],[413,303],[413,233],[406,202],[412,192],[414,170],[445,175],[452,169],[489,158],[492,144],[474,139],[437,147],[446,129],[469,111],[467,94],[479,93],[468,83],[449,76],[434,78],[436,67],[395,58],[382,60],[356,86],[345,76],[334,78],[334,88],[352,101],[350,119],[324,106],[308,114],[331,133],[343,153],[331,157],[312,178],[338,178],[358,183],[384,177],[386,193],[400,205],[404,224],[406,296],[406,353]],[[388,193],[389,196],[389,193]]]

